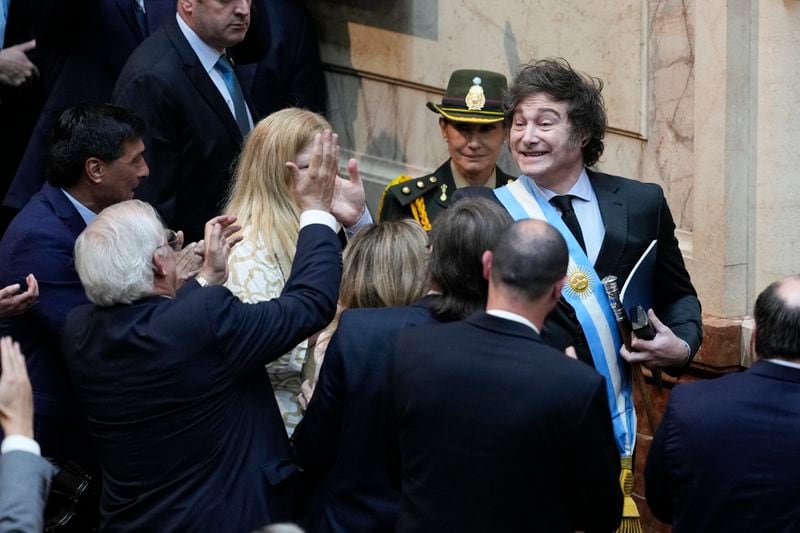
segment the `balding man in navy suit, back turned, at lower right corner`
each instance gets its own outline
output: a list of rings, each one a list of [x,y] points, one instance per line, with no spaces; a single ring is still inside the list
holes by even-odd
[[[753,366],[677,386],[653,439],[647,503],[676,533],[800,529],[800,277],[753,316]]]

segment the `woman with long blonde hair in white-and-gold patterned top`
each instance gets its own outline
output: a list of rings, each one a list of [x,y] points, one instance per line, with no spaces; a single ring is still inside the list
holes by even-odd
[[[307,172],[314,137],[330,124],[316,113],[289,108],[260,121],[250,132],[237,163],[224,212],[235,215],[243,240],[231,253],[226,286],[248,303],[276,298],[291,272],[300,226],[292,194],[296,177]],[[332,213],[345,232],[371,222],[354,159],[350,180],[338,178]],[[267,365],[287,433],[302,413],[297,401],[309,341]]]

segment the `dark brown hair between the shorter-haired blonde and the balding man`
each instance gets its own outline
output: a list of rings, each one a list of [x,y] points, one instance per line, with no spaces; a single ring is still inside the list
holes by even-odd
[[[486,305],[483,252],[511,224],[508,212],[484,198],[465,198],[436,219],[430,232],[430,275],[442,293],[433,311],[439,320],[461,320]]]

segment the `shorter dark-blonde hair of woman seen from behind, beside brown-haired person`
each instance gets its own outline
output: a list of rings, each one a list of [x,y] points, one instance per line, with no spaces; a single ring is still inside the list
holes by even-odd
[[[393,220],[360,230],[344,250],[339,305],[410,305],[428,288],[428,235],[414,220]]]

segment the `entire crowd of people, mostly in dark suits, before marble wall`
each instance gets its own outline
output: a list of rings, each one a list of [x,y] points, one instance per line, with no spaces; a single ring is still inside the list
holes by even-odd
[[[453,72],[428,104],[448,161],[390,183],[375,224],[294,4],[64,4],[0,13],[37,39],[8,32],[0,84],[29,86],[34,48],[51,69],[0,241],[0,531],[636,521],[632,375],[680,375],[702,320],[661,188],[589,168],[599,79]],[[653,336],[626,343],[601,280],[654,241]],[[677,387],[653,441],[676,531],[800,523],[800,281],[754,316],[759,362]],[[64,472],[80,506],[48,522]]]

